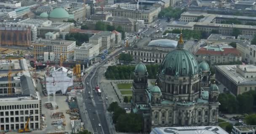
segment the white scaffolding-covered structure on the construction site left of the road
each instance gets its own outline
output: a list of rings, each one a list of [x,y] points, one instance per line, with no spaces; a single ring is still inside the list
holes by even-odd
[[[48,94],[56,93],[61,90],[61,93],[66,93],[67,88],[73,85],[72,72],[65,67],[53,67],[50,71],[49,77],[46,77],[45,88]]]

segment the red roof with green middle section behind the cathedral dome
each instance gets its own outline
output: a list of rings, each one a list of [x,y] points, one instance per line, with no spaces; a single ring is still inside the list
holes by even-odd
[[[236,56],[241,56],[241,53],[237,51],[235,48],[223,48],[224,51],[213,51],[213,50],[207,50],[206,48],[202,47],[200,48],[195,55],[229,55],[234,54]]]

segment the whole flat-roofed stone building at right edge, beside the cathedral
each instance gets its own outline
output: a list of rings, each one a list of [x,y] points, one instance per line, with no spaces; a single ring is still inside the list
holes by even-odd
[[[236,96],[256,90],[255,65],[219,65],[216,66],[215,78]]]

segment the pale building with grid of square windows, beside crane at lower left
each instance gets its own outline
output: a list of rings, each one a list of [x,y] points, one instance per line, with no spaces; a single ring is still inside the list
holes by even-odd
[[[29,65],[30,66],[30,65]],[[8,72],[0,77],[0,130],[24,129],[29,115],[28,128],[40,129],[41,99],[29,73],[26,59],[1,59],[1,70],[12,67],[11,90],[8,90]]]

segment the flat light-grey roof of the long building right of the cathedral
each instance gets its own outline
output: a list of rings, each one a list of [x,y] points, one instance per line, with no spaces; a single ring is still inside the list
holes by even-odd
[[[229,78],[229,80],[233,81],[237,85],[256,84],[256,77],[243,77],[242,74],[236,71],[237,68],[240,68],[241,70],[244,70],[244,68],[246,68],[247,72],[256,72],[256,66],[251,64],[216,66],[216,70],[222,72],[222,74],[224,74],[226,77]]]

